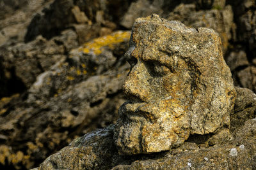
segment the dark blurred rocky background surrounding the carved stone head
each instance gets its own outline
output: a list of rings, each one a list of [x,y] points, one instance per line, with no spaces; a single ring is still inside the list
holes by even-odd
[[[135,4],[138,11],[132,11]],[[129,70],[122,57],[127,40],[99,56],[80,53],[70,59],[70,51],[129,30],[136,17],[152,12],[215,29],[235,85],[256,92],[255,5],[253,0],[1,1],[0,168],[36,167],[77,136],[115,122]],[[88,94],[79,91],[86,89]],[[241,120],[255,117],[253,109],[245,111],[231,119],[234,132]]]

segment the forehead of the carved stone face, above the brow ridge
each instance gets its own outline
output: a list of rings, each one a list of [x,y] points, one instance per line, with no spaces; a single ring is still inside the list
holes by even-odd
[[[166,25],[140,22],[132,29],[128,52],[137,59],[172,64],[181,50],[180,44],[175,42],[182,39],[182,36],[182,32],[173,31]],[[183,42],[183,45],[186,43]]]

